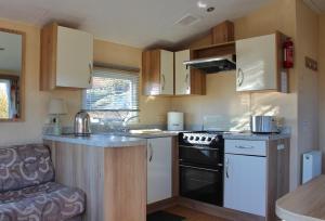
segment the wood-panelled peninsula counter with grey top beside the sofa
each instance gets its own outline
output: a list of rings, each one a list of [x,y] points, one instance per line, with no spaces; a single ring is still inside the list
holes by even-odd
[[[145,221],[146,140],[91,135],[44,135],[56,182],[87,195],[82,220]]]

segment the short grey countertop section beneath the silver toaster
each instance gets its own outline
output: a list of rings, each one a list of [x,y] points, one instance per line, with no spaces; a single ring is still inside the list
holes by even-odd
[[[249,141],[273,141],[281,139],[288,139],[290,134],[288,133],[272,133],[272,134],[256,134],[256,133],[239,133],[230,132],[223,135],[225,140],[249,140]]]

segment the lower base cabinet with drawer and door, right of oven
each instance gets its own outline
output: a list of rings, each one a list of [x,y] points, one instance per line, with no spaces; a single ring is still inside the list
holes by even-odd
[[[289,139],[225,140],[225,208],[274,221],[275,202],[289,191]]]

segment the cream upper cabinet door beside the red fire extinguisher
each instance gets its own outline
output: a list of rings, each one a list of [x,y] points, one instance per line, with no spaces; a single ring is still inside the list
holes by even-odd
[[[236,41],[237,91],[277,90],[276,35]]]

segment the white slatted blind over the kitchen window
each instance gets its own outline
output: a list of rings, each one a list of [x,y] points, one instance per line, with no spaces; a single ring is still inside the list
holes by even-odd
[[[139,75],[94,68],[92,88],[83,91],[83,109],[139,110]]]

